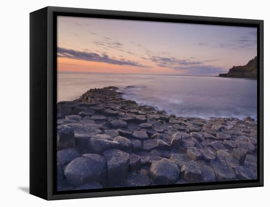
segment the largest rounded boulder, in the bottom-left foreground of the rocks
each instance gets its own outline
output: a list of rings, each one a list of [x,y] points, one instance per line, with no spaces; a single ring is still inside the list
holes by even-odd
[[[64,169],[69,184],[80,186],[90,182],[106,180],[107,167],[105,158],[97,154],[84,154],[71,161]]]

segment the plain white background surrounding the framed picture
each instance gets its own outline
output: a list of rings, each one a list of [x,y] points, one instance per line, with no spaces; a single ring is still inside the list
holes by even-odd
[[[265,21],[265,187],[47,202],[29,187],[29,12],[45,6],[261,19]],[[3,0],[0,12],[0,206],[269,205],[270,14],[266,0]],[[268,192],[268,193],[267,193]]]

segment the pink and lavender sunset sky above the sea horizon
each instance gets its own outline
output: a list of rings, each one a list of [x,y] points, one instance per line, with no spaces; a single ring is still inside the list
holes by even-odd
[[[257,29],[57,18],[57,70],[216,76],[257,55]]]

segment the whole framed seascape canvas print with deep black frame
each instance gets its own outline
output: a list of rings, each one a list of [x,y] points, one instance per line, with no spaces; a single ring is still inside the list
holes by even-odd
[[[263,21],[30,13],[30,193],[263,186]]]

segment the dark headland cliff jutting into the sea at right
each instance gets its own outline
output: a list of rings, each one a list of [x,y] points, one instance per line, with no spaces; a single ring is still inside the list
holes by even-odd
[[[257,56],[245,66],[234,66],[228,73],[220,73],[218,77],[257,79]]]

